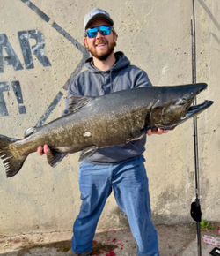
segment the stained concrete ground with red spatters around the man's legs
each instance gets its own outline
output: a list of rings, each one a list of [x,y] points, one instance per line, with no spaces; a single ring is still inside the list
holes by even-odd
[[[215,230],[202,230],[204,235],[218,237]],[[158,240],[160,256],[195,256],[198,254],[196,245],[196,229],[194,225],[158,225]],[[14,237],[0,237],[1,256],[62,256],[70,249],[71,231],[19,234]],[[202,256],[210,255],[215,248],[202,239]],[[134,256],[136,255],[136,242],[129,229],[97,230],[93,240],[92,255],[106,256]]]

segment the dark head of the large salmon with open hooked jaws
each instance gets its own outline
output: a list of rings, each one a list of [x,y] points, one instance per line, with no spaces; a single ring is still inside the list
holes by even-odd
[[[205,83],[163,87],[158,100],[151,108],[150,122],[163,130],[172,130],[187,119],[198,115],[213,103],[204,101],[202,104],[194,105],[196,95],[206,87]]]

